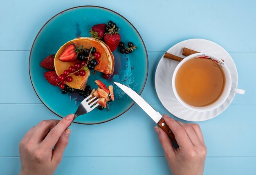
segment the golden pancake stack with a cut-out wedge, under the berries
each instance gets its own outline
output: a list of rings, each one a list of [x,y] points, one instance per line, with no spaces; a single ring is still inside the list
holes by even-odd
[[[54,67],[57,75],[63,74],[64,70],[68,70],[70,66],[74,66],[74,63],[81,62],[79,60],[75,60],[72,62],[63,62],[59,60],[59,56],[61,55],[63,50],[71,43],[75,43],[78,47],[83,45],[84,49],[90,49],[90,47],[95,47],[96,51],[101,53],[101,58],[99,59],[100,63],[95,67],[95,70],[103,72],[105,74],[113,74],[115,65],[114,56],[105,43],[95,38],[75,38],[74,40],[65,43],[56,53],[56,56],[54,58]],[[84,90],[88,81],[88,77],[90,76],[90,70],[86,71],[85,76],[75,76],[74,74],[72,74],[71,76],[73,78],[73,81],[70,83],[66,82],[66,84],[71,88]]]

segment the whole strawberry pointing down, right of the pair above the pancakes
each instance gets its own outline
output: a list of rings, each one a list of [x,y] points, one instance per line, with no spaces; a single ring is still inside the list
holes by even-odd
[[[113,52],[121,40],[121,36],[118,33],[119,27],[117,27],[116,24],[112,21],[109,21],[108,27],[106,27],[106,29],[107,33],[104,35],[104,41],[110,48],[111,52]]]

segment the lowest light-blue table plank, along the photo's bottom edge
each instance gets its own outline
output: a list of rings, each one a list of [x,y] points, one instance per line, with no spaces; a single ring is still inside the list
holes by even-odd
[[[256,162],[256,157],[207,157],[204,174],[255,175],[256,166],[247,162]],[[18,174],[19,157],[0,158],[0,169],[4,175]],[[55,174],[171,175],[164,157],[63,157]]]

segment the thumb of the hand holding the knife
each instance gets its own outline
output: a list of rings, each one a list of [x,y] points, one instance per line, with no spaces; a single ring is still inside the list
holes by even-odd
[[[170,156],[174,154],[175,148],[171,143],[169,136],[161,128],[155,126],[155,132],[158,135],[160,144],[162,145],[166,155]]]

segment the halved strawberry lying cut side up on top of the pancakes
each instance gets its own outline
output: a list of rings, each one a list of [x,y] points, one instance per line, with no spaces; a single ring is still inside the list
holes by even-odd
[[[76,57],[82,48],[83,46],[77,47],[75,43],[71,43],[63,50],[63,52],[61,53],[61,56],[59,57],[59,60],[60,61],[76,60]]]

